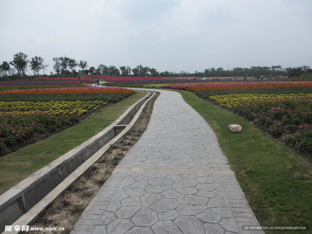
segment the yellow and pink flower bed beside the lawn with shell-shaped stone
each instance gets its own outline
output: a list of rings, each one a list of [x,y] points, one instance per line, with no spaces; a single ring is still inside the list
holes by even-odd
[[[305,152],[312,152],[312,94],[231,94],[210,96],[274,137]]]

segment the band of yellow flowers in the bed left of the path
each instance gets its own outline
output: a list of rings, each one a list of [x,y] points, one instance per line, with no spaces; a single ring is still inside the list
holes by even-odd
[[[50,102],[0,102],[0,114],[22,114],[48,112],[55,115],[82,115],[88,110],[96,110],[103,105],[105,101],[50,101]]]

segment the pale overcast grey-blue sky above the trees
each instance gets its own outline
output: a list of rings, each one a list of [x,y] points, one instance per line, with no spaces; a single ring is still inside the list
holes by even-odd
[[[312,66],[311,0],[0,0],[0,9],[0,62],[21,51],[41,56],[48,74],[61,56],[159,72]]]

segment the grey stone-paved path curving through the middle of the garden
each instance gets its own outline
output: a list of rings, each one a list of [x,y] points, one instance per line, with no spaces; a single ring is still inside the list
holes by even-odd
[[[250,233],[241,226],[259,223],[214,132],[179,93],[157,91],[147,130],[72,234]]]

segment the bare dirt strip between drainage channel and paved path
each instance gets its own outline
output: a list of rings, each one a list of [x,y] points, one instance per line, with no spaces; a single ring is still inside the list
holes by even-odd
[[[154,102],[159,96],[154,97],[145,105],[141,115],[133,127],[124,134],[114,145],[112,145],[102,157],[96,161],[65,193],[53,202],[37,221],[29,226],[28,232],[31,234],[41,233],[70,233],[81,213],[89,205],[96,193],[110,177],[111,173],[120,160],[139,140],[147,128],[150,116],[152,115]],[[64,231],[31,231],[36,227],[64,228]]]

